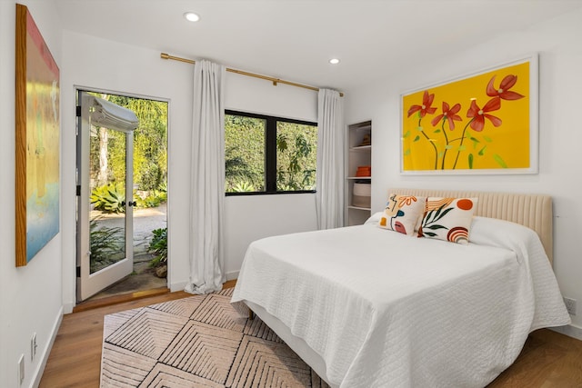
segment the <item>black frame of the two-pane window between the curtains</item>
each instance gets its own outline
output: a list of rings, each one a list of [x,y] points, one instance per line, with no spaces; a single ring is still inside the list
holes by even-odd
[[[231,109],[225,109],[225,115],[238,115],[244,117],[257,118],[265,120],[265,191],[262,192],[226,192],[226,196],[239,195],[273,195],[273,194],[307,194],[316,193],[316,190],[292,190],[292,191],[277,191],[276,190],[276,127],[277,123],[291,123],[301,125],[311,125],[317,127],[316,122],[306,120],[296,120],[285,117],[272,116],[267,114],[254,114],[249,112],[241,112]],[[317,171],[316,171],[317,174]]]

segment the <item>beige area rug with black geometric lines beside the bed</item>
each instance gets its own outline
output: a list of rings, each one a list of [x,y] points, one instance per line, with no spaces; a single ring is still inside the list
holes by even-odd
[[[328,388],[233,291],[105,315],[101,387]]]

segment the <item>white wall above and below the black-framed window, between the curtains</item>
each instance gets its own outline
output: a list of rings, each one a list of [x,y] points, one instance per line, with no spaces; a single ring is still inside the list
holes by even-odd
[[[317,94],[289,85],[227,73],[226,108],[317,121]],[[317,229],[315,194],[227,196],[227,278],[236,279],[246,247],[252,241],[276,234]]]

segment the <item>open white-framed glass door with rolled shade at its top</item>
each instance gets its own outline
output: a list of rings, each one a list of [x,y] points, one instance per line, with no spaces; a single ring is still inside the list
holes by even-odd
[[[77,302],[133,271],[132,114],[77,91]]]

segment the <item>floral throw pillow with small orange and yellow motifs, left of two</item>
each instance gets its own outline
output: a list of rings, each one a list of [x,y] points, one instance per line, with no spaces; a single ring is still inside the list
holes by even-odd
[[[388,195],[386,209],[378,226],[401,234],[413,235],[418,220],[425,211],[426,198],[412,195]]]

